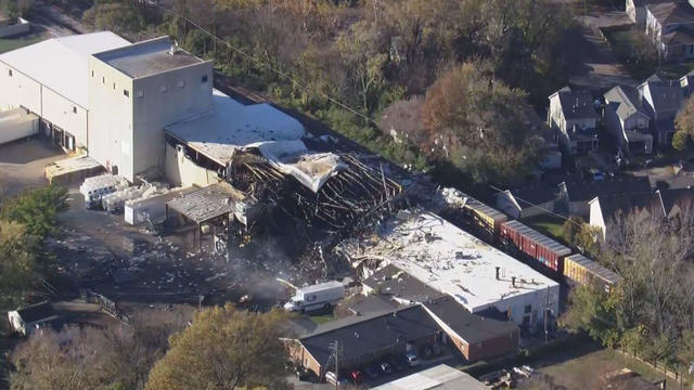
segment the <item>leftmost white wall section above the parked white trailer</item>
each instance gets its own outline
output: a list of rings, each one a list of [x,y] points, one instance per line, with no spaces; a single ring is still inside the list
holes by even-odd
[[[0,110],[18,106],[41,116],[41,84],[0,62]]]

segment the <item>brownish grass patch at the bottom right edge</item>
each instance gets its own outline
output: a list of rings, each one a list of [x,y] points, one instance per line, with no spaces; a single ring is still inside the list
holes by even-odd
[[[668,389],[679,389],[679,384],[676,384],[669,377],[666,378],[663,373],[656,372],[650,365],[608,348],[590,352],[580,358],[547,365],[539,368],[539,372],[552,377],[556,386],[564,386],[569,390],[578,390],[600,388],[600,377],[602,375],[621,368],[629,368],[650,381],[668,379]]]

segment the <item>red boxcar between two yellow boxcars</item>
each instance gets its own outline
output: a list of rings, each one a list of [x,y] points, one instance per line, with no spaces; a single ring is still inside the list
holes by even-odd
[[[564,258],[571,253],[570,248],[515,220],[501,224],[500,238],[560,274]]]

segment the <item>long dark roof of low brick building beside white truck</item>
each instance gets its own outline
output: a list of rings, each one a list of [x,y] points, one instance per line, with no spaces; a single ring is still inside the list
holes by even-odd
[[[426,310],[409,306],[369,315],[352,315],[319,325],[299,341],[319,363],[325,364],[333,352],[332,346],[339,342],[340,358],[350,360],[372,352],[390,349],[393,346],[435,335],[441,330]]]

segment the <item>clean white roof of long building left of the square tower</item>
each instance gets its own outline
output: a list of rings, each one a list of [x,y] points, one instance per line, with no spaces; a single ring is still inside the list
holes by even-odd
[[[0,54],[0,62],[89,108],[89,56],[130,42],[111,31],[48,39]]]

